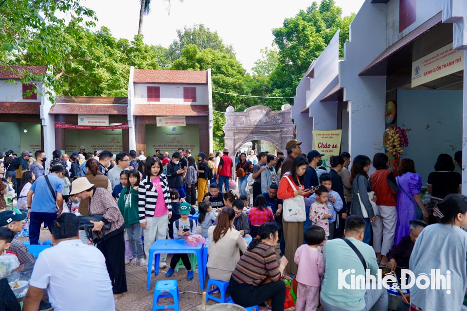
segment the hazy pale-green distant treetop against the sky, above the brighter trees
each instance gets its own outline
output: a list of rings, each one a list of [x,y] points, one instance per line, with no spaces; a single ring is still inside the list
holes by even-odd
[[[181,51],[189,44],[196,45],[199,51],[212,49],[227,54],[234,54],[232,45],[224,44],[216,31],[212,32],[209,28],[205,28],[203,24],[199,24],[193,27],[185,26],[183,29],[177,30],[177,39],[169,46],[169,58],[172,60],[180,58]]]

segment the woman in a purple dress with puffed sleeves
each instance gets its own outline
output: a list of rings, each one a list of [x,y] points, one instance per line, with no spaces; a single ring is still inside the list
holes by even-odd
[[[394,245],[398,244],[403,237],[410,234],[409,222],[416,219],[415,204],[422,210],[423,218],[428,217],[420,195],[422,176],[415,172],[413,160],[402,159],[398,168],[398,174],[399,176],[397,176],[396,181],[399,191],[397,191],[397,225],[395,226]]]

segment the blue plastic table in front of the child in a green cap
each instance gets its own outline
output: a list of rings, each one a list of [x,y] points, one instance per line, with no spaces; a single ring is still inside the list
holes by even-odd
[[[159,274],[159,259],[161,254],[196,254],[198,259],[198,274],[199,274],[199,288],[204,289],[204,271],[205,265],[203,259],[203,244],[198,246],[192,246],[185,242],[183,239],[179,240],[157,240],[149,248],[149,257],[147,263],[147,283],[146,290],[149,291],[151,287],[151,267],[153,261],[154,264],[154,275]]]

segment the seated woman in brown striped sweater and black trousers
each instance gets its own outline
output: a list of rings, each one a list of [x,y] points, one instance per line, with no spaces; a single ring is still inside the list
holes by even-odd
[[[281,280],[288,260],[277,262],[275,247],[279,241],[279,227],[264,223],[258,235],[238,261],[230,278],[229,291],[237,305],[249,307],[272,299],[272,311],[283,311],[286,285]],[[267,283],[265,279],[270,279]]]

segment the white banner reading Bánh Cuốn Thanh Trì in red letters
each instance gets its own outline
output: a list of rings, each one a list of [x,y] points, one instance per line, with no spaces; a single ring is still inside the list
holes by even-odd
[[[464,70],[464,51],[453,50],[452,43],[412,63],[412,87]]]

